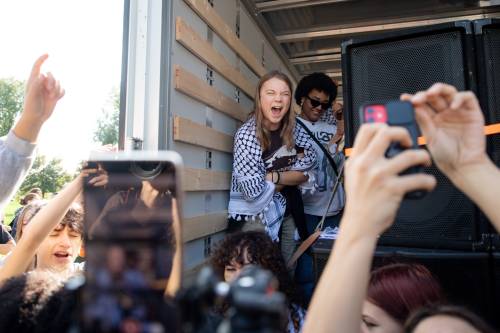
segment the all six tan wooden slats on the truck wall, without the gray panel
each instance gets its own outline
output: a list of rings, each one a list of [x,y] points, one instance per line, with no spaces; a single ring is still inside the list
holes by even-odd
[[[236,33],[225,23],[220,15],[207,1],[185,0],[207,26],[212,29],[248,68],[260,77],[266,69],[236,36]],[[240,89],[250,100],[253,100],[255,86],[239,68],[231,65],[212,43],[195,31],[187,21],[176,17],[175,39],[193,56],[213,68],[228,82]],[[245,109],[234,98],[193,74],[187,67],[174,64],[174,88],[178,92],[192,98],[218,112],[221,112],[237,122],[244,122],[250,110]],[[175,115],[172,123],[173,140],[187,143],[208,150],[232,154],[233,137],[205,124]],[[185,168],[183,188],[186,192],[227,191],[230,186],[230,172],[207,169]],[[186,218],[184,221],[184,241],[189,242],[225,230],[227,226],[227,211],[211,212],[204,215]]]

